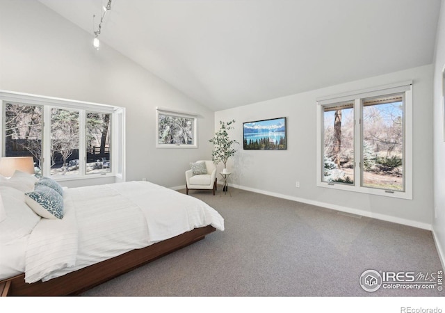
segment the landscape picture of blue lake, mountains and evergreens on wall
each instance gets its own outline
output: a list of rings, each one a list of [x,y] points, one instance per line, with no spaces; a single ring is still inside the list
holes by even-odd
[[[243,123],[244,150],[286,150],[286,118]]]

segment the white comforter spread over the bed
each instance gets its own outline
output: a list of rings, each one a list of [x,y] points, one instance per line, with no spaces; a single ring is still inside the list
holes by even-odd
[[[49,280],[196,227],[224,230],[206,203],[149,182],[65,190],[65,216],[29,236],[25,280]]]

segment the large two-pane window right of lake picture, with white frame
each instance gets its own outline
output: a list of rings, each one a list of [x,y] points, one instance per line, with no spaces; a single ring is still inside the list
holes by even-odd
[[[318,186],[412,199],[411,83],[318,99]]]

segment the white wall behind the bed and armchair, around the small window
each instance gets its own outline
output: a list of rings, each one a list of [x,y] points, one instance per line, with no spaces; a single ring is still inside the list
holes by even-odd
[[[0,1],[0,90],[125,107],[127,180],[182,186],[189,162],[211,158],[212,111],[103,42],[96,51],[92,34],[38,1]],[[156,106],[200,114],[199,148],[156,149]]]

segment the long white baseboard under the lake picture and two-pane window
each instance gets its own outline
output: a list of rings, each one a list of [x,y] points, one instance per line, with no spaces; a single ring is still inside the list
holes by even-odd
[[[242,189],[242,190],[245,190],[245,191],[252,191],[254,193],[262,193],[264,195],[270,195],[270,196],[273,196],[273,197],[282,198],[282,199],[286,199],[286,200],[293,200],[293,201],[296,201],[296,202],[312,204],[312,205],[316,205],[317,207],[325,207],[327,209],[333,209],[333,210],[336,210],[336,211],[342,211],[342,212],[355,214],[355,215],[359,215],[359,216],[366,216],[366,217],[375,218],[375,219],[378,219],[378,220],[385,220],[385,221],[391,222],[391,223],[397,223],[397,224],[417,227],[417,228],[421,228],[423,230],[432,230],[432,225],[431,224],[421,223],[421,222],[417,222],[415,220],[407,220],[405,218],[398,218],[396,216],[389,216],[389,215],[385,215],[385,214],[378,214],[378,213],[373,213],[373,212],[364,211],[364,210],[360,210],[360,209],[353,209],[353,208],[350,208],[350,207],[343,207],[343,206],[337,205],[337,204],[330,204],[330,203],[326,203],[326,202],[308,200],[308,199],[305,199],[305,198],[293,197],[291,195],[283,195],[282,193],[273,193],[273,192],[270,192],[270,191],[264,191],[264,190],[256,189],[256,188],[250,188],[250,187],[245,187],[245,186],[238,186],[238,185],[233,185],[233,184],[229,184],[229,186],[233,186],[234,188],[239,188],[239,189]]]

